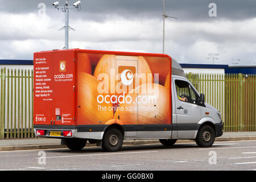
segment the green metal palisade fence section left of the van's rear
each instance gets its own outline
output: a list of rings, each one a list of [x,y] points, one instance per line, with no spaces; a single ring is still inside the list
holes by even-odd
[[[33,70],[1,68],[0,139],[34,138]]]

